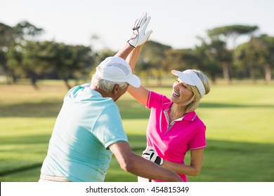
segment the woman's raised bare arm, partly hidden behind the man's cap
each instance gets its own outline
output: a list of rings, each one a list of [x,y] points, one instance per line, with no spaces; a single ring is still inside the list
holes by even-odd
[[[126,58],[126,61],[129,62],[129,65],[131,66],[132,72],[135,69],[135,65],[141,50],[142,45],[132,50],[129,56]],[[142,85],[141,87],[132,87],[131,85],[129,85],[127,92],[129,92],[129,94],[131,94],[131,96],[134,97],[134,99],[136,99],[138,102],[146,106],[148,102],[149,90],[145,89],[145,87],[143,87]]]

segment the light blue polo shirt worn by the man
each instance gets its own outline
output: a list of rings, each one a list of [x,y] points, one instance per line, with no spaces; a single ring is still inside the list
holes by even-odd
[[[112,158],[108,146],[128,142],[115,102],[89,85],[73,87],[65,96],[41,174],[104,181]]]

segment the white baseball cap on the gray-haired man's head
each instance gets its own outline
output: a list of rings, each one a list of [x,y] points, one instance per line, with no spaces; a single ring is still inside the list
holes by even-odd
[[[100,78],[117,83],[129,83],[140,87],[141,80],[131,71],[129,64],[121,57],[107,57],[96,67]]]

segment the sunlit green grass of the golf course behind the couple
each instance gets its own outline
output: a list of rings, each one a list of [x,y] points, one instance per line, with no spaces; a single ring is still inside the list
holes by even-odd
[[[0,181],[38,181],[53,125],[67,93],[61,81],[0,84]],[[170,87],[151,90],[171,93]],[[149,110],[129,94],[117,102],[133,151],[145,148]],[[274,84],[212,85],[197,113],[207,125],[202,172],[189,181],[274,181]],[[187,156],[189,162],[189,155]],[[112,158],[105,181],[136,181]]]

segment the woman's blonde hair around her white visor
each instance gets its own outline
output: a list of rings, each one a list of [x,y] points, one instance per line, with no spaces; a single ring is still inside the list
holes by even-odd
[[[208,94],[210,91],[209,78],[207,78],[207,76],[204,73],[202,73],[202,71],[200,70],[195,70],[195,69],[192,69],[192,70],[197,74],[197,76],[202,81],[202,84],[204,85],[204,89],[205,89],[205,94]],[[193,97],[192,99],[190,99],[190,103],[186,107],[186,111],[185,111],[186,113],[190,111],[195,111],[195,109],[197,109],[197,107],[200,104],[200,100],[202,99],[201,94],[195,85],[187,85],[187,87],[189,90],[193,92]]]

